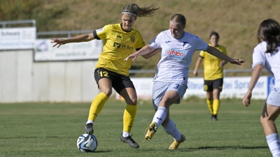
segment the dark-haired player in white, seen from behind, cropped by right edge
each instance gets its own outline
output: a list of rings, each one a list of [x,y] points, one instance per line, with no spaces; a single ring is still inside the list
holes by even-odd
[[[259,44],[253,50],[253,72],[248,91],[242,103],[248,107],[251,103],[252,90],[265,68],[274,76],[275,85],[267,97],[260,122],[265,132],[272,156],[280,156],[279,135],[274,124],[280,113],[280,26],[275,20],[264,20],[258,28]]]

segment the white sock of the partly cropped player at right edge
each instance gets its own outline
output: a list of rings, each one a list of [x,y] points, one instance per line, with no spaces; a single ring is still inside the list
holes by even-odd
[[[267,144],[273,157],[280,156],[280,142],[278,133],[267,135]]]

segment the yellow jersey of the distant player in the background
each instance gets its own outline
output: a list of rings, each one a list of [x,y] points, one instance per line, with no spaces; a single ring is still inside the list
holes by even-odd
[[[223,54],[227,54],[227,50],[225,49],[225,47],[218,45],[215,48],[223,52]],[[223,61],[223,59],[214,57],[212,54],[204,51],[200,52],[200,57],[204,58],[204,80],[216,80],[219,78],[223,78],[223,68],[220,67],[220,62]]]

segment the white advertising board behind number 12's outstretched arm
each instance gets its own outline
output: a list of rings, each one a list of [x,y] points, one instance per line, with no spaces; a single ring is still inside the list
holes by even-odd
[[[59,48],[52,47],[50,39],[37,39],[35,42],[34,61],[69,61],[99,59],[103,50],[102,40],[83,43],[69,43]]]

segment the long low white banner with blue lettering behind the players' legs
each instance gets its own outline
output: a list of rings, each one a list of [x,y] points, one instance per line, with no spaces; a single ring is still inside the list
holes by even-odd
[[[137,91],[139,99],[151,100],[153,89],[153,78],[131,78]],[[223,80],[223,91],[221,98],[243,98],[250,84],[251,77],[225,77]],[[269,91],[274,87],[273,77],[261,76],[258,83],[255,84],[253,89],[253,99],[266,99]],[[121,97],[116,94],[116,98]],[[188,78],[188,89],[184,98],[188,96],[197,96],[206,98],[206,91],[204,91],[203,77],[190,77]]]

